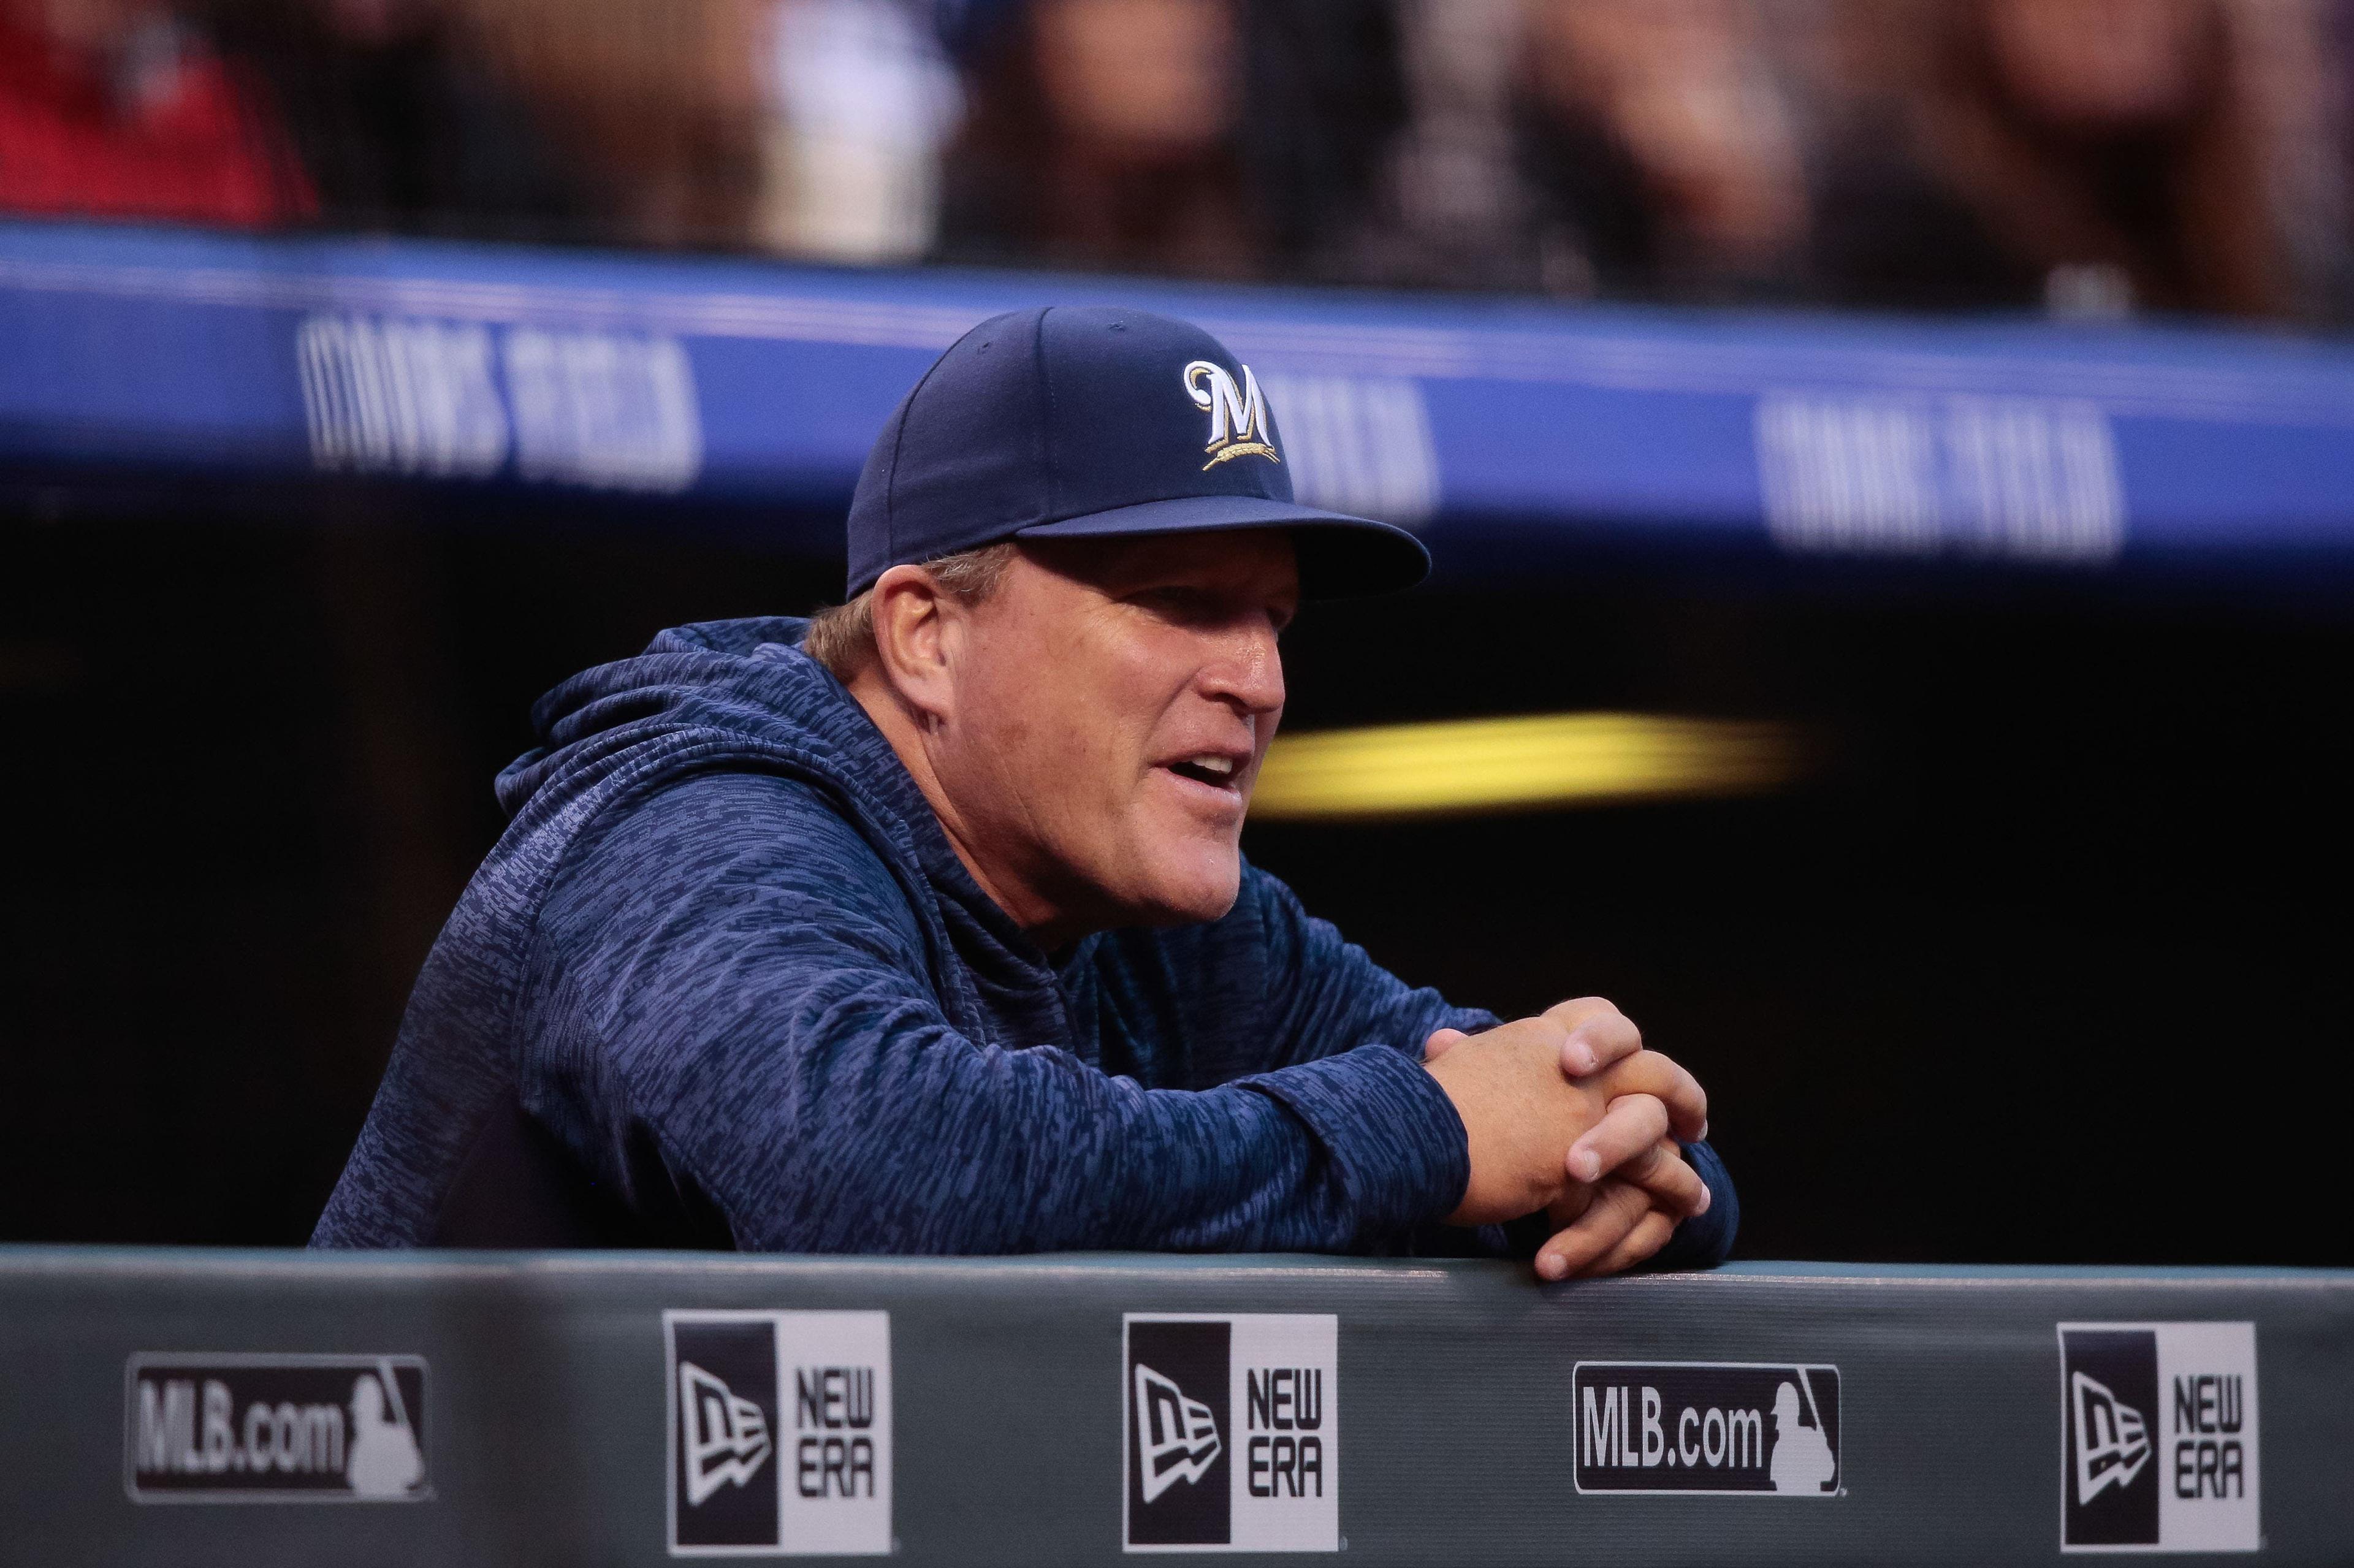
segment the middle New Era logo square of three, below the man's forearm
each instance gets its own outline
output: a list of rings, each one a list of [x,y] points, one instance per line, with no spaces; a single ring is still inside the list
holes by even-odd
[[[1339,1318],[1128,1314],[1128,1552],[1339,1552]]]

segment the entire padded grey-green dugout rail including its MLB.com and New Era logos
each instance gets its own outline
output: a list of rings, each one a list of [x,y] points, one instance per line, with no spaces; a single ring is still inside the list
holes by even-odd
[[[21,1563],[2354,1559],[2335,1271],[0,1248],[0,1323]]]

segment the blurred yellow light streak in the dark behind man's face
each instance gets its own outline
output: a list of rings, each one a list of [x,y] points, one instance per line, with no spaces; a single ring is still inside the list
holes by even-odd
[[[1532,805],[1733,796],[1796,777],[1784,725],[1655,713],[1537,713],[1278,735],[1262,822],[1424,817]]]

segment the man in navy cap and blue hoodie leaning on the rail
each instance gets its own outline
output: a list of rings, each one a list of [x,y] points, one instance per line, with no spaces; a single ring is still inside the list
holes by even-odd
[[[1700,1085],[1615,1008],[1497,1026],[1243,864],[1302,591],[1429,560],[1288,473],[1196,327],[965,334],[847,605],[541,699],[313,1241],[1718,1262]]]

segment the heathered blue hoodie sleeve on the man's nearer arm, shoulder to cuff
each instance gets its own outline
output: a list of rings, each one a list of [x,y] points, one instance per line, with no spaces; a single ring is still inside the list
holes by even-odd
[[[1396,1050],[1144,1090],[965,1038],[880,857],[791,779],[640,803],[560,873],[541,946],[579,1154],[612,1172],[650,1135],[746,1250],[1379,1250],[1469,1182]]]

